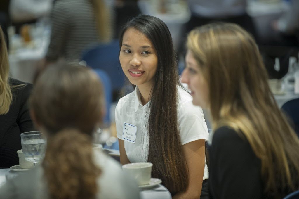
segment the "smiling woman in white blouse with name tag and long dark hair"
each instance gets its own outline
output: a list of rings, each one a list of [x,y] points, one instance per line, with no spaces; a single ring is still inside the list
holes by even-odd
[[[120,47],[121,67],[135,86],[115,110],[121,163],[151,162],[152,177],[160,178],[173,198],[199,198],[201,190],[207,197],[208,129],[201,108],[179,83],[166,24],[138,16],[125,25]]]

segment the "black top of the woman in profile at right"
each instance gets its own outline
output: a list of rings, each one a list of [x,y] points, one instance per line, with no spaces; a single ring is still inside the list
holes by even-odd
[[[220,127],[214,132],[209,155],[210,198],[267,198],[263,195],[260,159],[245,137]]]

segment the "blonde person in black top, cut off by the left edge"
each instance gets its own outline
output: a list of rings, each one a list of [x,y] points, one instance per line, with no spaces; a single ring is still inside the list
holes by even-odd
[[[4,34],[0,28],[0,168],[19,164],[21,133],[32,131],[27,100],[32,84],[9,77],[9,63]]]

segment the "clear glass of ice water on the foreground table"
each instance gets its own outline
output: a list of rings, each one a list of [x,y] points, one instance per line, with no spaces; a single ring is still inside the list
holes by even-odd
[[[27,161],[35,165],[45,157],[47,141],[40,131],[21,133],[21,143]]]

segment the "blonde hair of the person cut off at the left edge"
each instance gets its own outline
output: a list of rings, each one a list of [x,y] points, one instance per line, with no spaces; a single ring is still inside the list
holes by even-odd
[[[9,111],[12,98],[9,84],[7,46],[2,28],[0,27],[0,115],[4,115]]]

